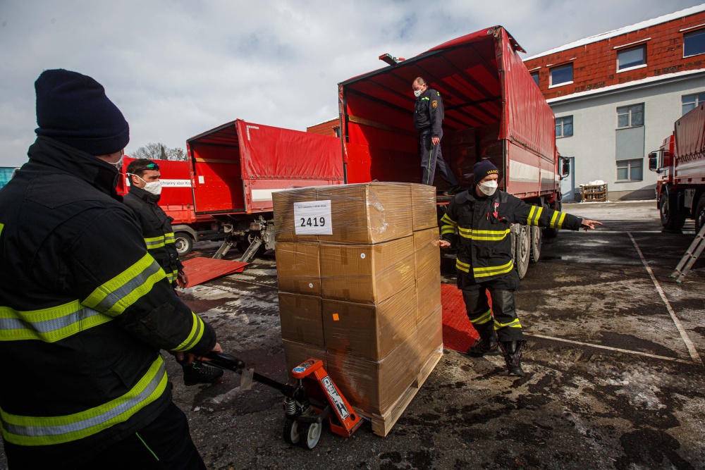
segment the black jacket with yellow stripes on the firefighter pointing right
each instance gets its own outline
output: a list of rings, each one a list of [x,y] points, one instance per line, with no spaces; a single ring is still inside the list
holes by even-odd
[[[441,238],[458,242],[455,268],[476,280],[491,280],[514,268],[510,225],[578,230],[581,218],[532,206],[518,197],[497,190],[479,198],[471,190],[456,194],[441,218]]]

